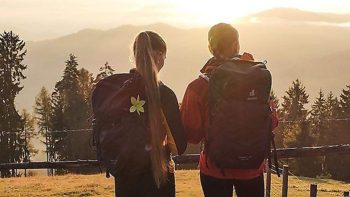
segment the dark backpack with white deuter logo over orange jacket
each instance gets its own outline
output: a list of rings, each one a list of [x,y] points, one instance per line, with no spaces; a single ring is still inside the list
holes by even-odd
[[[271,74],[262,62],[221,63],[210,78],[210,127],[204,152],[221,169],[258,169],[269,155]]]

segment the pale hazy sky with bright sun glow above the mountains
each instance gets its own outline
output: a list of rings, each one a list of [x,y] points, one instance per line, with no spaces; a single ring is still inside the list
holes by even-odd
[[[232,22],[274,7],[345,14],[350,13],[350,0],[0,0],[0,30],[14,29],[23,39],[38,40],[130,23],[191,28]]]

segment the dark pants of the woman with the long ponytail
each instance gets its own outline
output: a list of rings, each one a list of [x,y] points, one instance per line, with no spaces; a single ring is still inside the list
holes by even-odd
[[[157,188],[152,172],[137,177],[114,178],[116,197],[175,197],[175,176]]]

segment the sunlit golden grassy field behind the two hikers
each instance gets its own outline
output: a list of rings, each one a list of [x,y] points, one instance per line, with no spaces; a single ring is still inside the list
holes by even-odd
[[[311,182],[318,183],[317,196],[341,196],[350,184],[328,179],[289,177],[288,196],[309,196]],[[280,196],[282,178],[272,175],[271,196]],[[113,196],[113,178],[98,175],[34,176],[0,179],[0,196]],[[203,196],[198,170],[176,171],[176,196]]]

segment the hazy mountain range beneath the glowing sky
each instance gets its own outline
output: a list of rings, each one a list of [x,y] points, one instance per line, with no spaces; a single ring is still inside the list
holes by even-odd
[[[314,25],[307,21],[339,23],[350,15],[313,13],[291,8],[275,8],[245,19],[278,18],[278,23],[261,20],[234,25],[240,33],[241,52],[256,60],[268,60],[273,88],[282,96],[292,80],[301,79],[310,100],[320,87],[336,94],[350,82],[350,27]],[[296,21],[290,23],[288,21]],[[52,91],[70,53],[78,56],[79,66],[98,73],[108,61],[117,72],[127,72],[131,43],[141,30],[159,32],[166,40],[168,54],[162,81],[174,89],[181,101],[187,84],[198,77],[198,70],[210,57],[208,28],[180,29],[163,23],[146,26],[124,25],[109,30],[83,29],[56,39],[27,42],[25,88],[16,99],[18,109],[31,110],[42,86]]]

